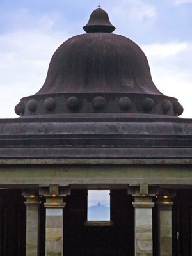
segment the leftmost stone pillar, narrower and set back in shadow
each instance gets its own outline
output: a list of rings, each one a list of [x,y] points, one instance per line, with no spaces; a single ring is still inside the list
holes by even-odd
[[[38,256],[40,196],[29,191],[22,195],[26,198],[26,256]]]

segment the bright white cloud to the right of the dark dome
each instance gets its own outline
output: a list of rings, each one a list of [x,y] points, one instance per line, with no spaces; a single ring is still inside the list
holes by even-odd
[[[181,117],[191,117],[191,42],[150,44],[142,45],[141,48],[148,58],[156,87],[164,95],[179,99],[184,107]]]

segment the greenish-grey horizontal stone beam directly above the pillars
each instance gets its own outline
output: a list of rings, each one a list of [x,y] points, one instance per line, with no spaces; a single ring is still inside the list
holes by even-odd
[[[109,175],[110,173],[110,175]],[[36,184],[170,184],[173,188],[192,185],[192,168],[188,164],[27,164],[0,168],[0,186],[19,187]],[[30,187],[29,186],[29,187]],[[74,185],[75,187],[75,185]]]

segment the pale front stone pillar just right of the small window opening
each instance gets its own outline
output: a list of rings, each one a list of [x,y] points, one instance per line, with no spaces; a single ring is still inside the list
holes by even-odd
[[[131,193],[134,196],[135,212],[135,256],[152,256],[153,239],[152,239],[152,202],[156,195],[154,189],[150,189],[147,184],[141,184],[139,187],[132,187]]]

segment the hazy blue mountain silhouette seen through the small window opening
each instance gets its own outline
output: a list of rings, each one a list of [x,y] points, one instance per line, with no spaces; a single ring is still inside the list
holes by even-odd
[[[88,207],[88,220],[110,220],[110,207],[97,205]]]

